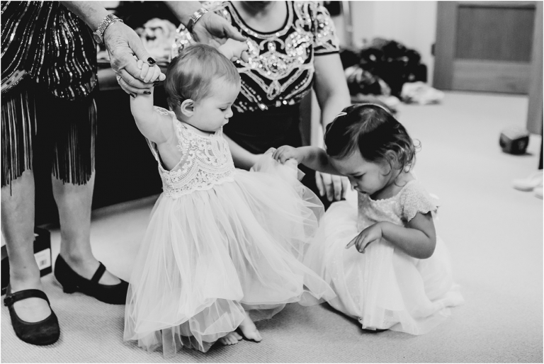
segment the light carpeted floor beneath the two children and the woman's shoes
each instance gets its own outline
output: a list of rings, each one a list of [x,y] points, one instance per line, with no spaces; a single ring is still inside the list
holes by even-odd
[[[436,225],[466,301],[430,334],[369,334],[327,305],[293,304],[257,324],[261,343],[215,346],[206,354],[183,350],[165,359],[123,342],[124,307],[64,294],[49,275],[45,290],[60,319],[60,341],[22,343],[3,307],[1,362],[542,363],[543,201],[511,188],[512,179],[536,170],[540,137],[531,136],[521,157],[498,146],[502,128],[525,125],[526,110],[525,97],[472,93],[447,93],[439,106],[399,109],[399,120],[422,144],[416,174],[441,198]],[[94,252],[122,278],[130,275],[153,202],[94,212]],[[59,242],[52,231],[54,256]]]

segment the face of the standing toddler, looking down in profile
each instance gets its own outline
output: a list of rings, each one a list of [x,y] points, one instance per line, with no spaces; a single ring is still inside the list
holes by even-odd
[[[211,90],[208,96],[196,102],[189,120],[191,125],[207,132],[215,132],[229,122],[231,106],[238,96],[240,86],[214,80]]]

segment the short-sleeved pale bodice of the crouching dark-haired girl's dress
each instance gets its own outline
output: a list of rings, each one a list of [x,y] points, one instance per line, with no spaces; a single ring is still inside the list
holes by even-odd
[[[409,181],[397,195],[384,200],[373,200],[368,195],[358,194],[359,231],[375,222],[387,221],[404,226],[416,216],[436,212],[438,203],[417,180]]]

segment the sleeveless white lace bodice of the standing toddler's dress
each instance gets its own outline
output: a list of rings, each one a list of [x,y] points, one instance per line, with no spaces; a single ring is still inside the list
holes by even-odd
[[[176,115],[164,108],[155,107],[157,113],[170,115],[181,159],[170,171],[164,169],[157,144],[147,140],[155,159],[159,164],[164,194],[173,198],[193,193],[196,190],[208,190],[225,181],[232,181],[234,162],[227,140],[222,130],[209,136],[199,135],[176,119]]]

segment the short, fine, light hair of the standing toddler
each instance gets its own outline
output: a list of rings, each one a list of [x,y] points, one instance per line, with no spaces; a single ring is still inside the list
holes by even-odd
[[[196,102],[205,98],[214,79],[240,82],[234,64],[214,47],[200,43],[187,46],[166,70],[164,90],[169,106],[175,110],[188,98]]]

